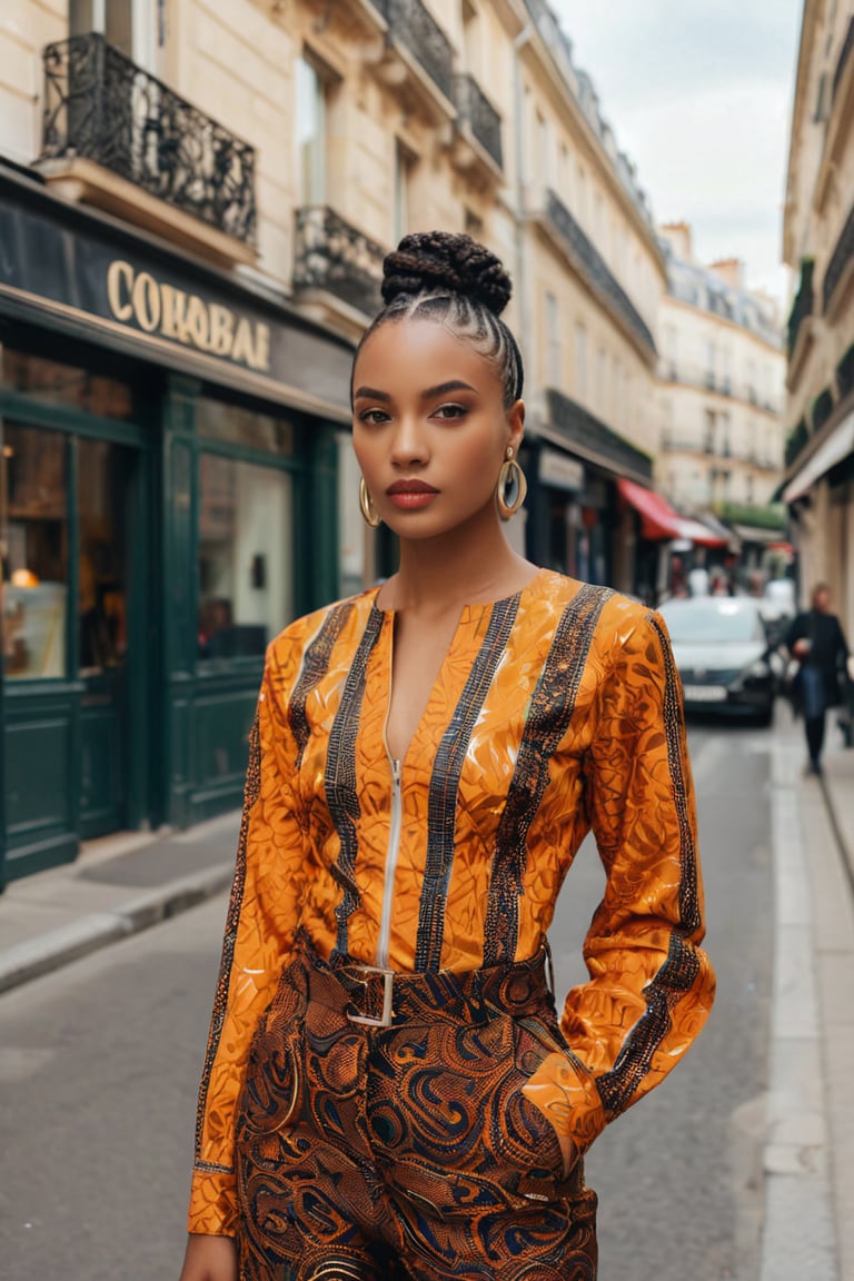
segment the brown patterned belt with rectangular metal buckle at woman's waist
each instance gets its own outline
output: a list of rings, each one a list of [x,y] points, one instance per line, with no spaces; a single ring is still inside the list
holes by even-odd
[[[526,961],[480,970],[437,970],[410,974],[364,965],[333,953],[324,961],[302,940],[309,970],[309,999],[346,1013],[353,1024],[392,1027],[419,1018],[479,1021],[488,1008],[511,1016],[552,1011],[552,958],[548,945]]]

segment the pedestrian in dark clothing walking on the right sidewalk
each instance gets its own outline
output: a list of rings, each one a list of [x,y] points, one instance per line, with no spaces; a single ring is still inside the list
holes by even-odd
[[[839,619],[830,612],[830,588],[819,583],[813,589],[812,610],[799,614],[786,633],[786,648],[800,664],[795,678],[796,703],[804,714],[813,774],[821,774],[827,708],[841,702],[840,685],[848,678],[848,644]]]

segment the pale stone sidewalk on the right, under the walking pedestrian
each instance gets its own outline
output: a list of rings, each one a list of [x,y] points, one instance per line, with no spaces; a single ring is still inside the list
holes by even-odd
[[[761,1281],[854,1281],[854,751],[775,731],[775,972]]]

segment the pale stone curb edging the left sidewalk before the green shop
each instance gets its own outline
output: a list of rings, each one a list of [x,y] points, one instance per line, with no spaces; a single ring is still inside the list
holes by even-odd
[[[38,939],[0,951],[0,993],[147,930],[152,925],[197,907],[227,889],[234,875],[234,860],[201,872],[182,876],[166,885],[136,894],[114,912],[91,912],[69,925],[50,930]]]

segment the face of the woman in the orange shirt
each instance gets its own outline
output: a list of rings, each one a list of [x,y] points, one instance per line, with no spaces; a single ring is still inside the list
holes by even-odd
[[[353,447],[383,520],[431,538],[476,516],[498,519],[507,446],[519,452],[525,409],[503,404],[493,365],[431,320],[376,329],[353,370]]]

